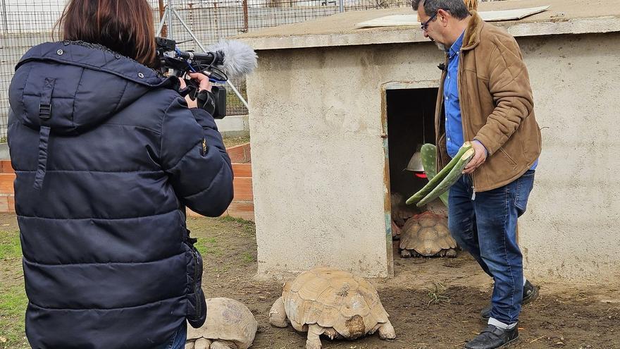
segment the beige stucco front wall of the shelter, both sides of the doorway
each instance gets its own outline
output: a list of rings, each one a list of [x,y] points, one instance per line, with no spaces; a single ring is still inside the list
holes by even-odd
[[[528,276],[620,267],[620,35],[520,38],[544,152],[521,219]],[[259,275],[389,276],[382,86],[438,84],[430,43],[259,51],[248,78]],[[415,106],[412,106],[414,108]]]

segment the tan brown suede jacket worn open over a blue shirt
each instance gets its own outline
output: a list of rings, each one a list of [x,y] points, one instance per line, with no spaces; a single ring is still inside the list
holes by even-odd
[[[488,150],[485,163],[473,172],[474,190],[483,192],[511,183],[530,169],[540,155],[541,139],[519,45],[476,11],[471,15],[459,56],[459,101],[464,140],[478,140]],[[442,98],[445,78],[446,72],[435,110],[438,169],[450,161]]]

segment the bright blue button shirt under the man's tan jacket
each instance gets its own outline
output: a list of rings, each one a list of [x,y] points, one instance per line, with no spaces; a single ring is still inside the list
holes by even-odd
[[[465,32],[452,44],[448,55],[446,79],[443,83],[443,104],[445,109],[446,147],[450,157],[455,157],[465,142],[463,139],[463,123],[461,121],[461,104],[459,102],[459,53],[463,46]],[[481,143],[482,144],[482,143]],[[538,159],[531,170],[536,169]]]

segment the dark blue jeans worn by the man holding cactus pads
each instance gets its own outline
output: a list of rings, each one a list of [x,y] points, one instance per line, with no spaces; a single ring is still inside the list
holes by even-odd
[[[504,324],[519,321],[523,299],[523,255],[516,241],[516,219],[526,211],[534,171],[503,187],[476,192],[464,175],[450,188],[448,226],[457,243],[495,281],[491,317]]]

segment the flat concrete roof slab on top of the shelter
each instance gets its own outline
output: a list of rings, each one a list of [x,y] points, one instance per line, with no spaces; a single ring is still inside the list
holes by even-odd
[[[498,11],[549,5],[549,10],[521,20],[493,22],[515,37],[620,32],[618,0],[508,0],[482,2],[478,11]],[[334,47],[367,44],[427,42],[419,27],[355,27],[356,23],[395,14],[411,14],[411,8],[352,11],[280,25],[238,35],[255,50]]]

